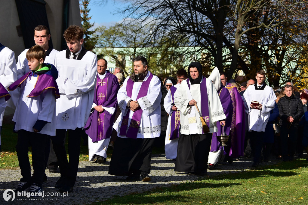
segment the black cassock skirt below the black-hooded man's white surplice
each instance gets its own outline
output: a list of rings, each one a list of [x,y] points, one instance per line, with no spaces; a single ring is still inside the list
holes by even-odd
[[[181,134],[177,145],[174,171],[203,173],[207,171],[212,133]]]

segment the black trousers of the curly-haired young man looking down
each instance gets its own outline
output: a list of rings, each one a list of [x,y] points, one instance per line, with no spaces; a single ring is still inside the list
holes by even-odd
[[[68,156],[65,150],[65,133],[66,130],[56,130],[56,136],[51,136],[52,146],[58,158],[58,165],[60,168],[61,181],[63,185],[73,187],[76,182],[79,154],[80,154],[80,140],[82,129],[68,130]]]

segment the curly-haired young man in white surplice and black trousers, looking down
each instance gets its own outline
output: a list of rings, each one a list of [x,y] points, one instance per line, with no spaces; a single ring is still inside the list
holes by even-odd
[[[56,103],[56,136],[51,140],[61,173],[55,188],[71,192],[78,172],[81,133],[93,104],[97,56],[82,47],[83,29],[79,26],[69,26],[63,36],[68,48],[55,55],[61,98]],[[66,130],[69,162],[63,145]]]

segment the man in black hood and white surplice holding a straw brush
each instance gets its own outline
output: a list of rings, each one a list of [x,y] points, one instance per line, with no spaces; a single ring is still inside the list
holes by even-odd
[[[205,176],[212,133],[217,132],[217,121],[225,124],[226,116],[216,88],[211,80],[202,76],[199,62],[188,66],[188,79],[176,89],[174,103],[181,112],[181,136],[174,171]],[[209,127],[209,133],[204,133],[200,117]]]

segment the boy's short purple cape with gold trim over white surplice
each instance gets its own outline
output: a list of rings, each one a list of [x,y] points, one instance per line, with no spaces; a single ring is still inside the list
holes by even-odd
[[[26,80],[28,75],[30,75],[31,72],[27,72],[25,75],[23,75],[21,78],[16,80],[14,83],[12,83],[7,90],[8,91],[14,91],[17,87],[21,87],[21,84]],[[44,74],[44,73],[38,73],[38,77],[36,80],[36,83],[34,85],[33,90],[30,92],[30,94],[27,96],[28,98],[34,98],[46,90],[51,88],[55,94],[56,99],[60,97],[59,94],[59,88],[56,83],[56,80],[52,77],[52,75]]]

